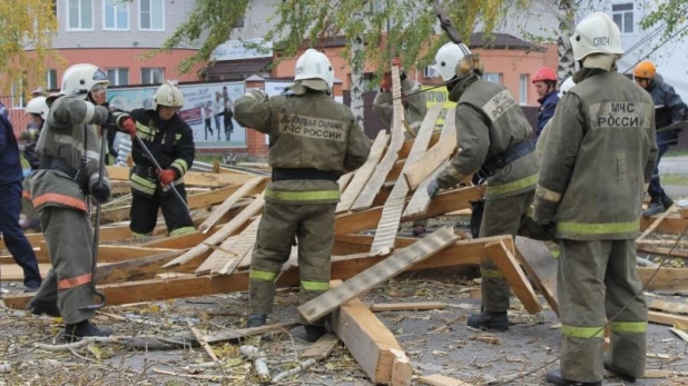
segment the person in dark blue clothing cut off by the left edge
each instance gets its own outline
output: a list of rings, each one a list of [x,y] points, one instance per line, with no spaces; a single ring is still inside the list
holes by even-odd
[[[19,226],[23,172],[19,145],[4,105],[0,102],[0,234],[14,261],[23,270],[27,293],[35,293],[42,279],[33,248]]]

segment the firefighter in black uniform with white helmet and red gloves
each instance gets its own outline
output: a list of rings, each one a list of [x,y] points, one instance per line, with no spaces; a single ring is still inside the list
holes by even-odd
[[[135,237],[153,234],[158,221],[158,209],[163,209],[169,236],[185,235],[196,229],[187,207],[179,202],[179,198],[169,188],[174,184],[186,202],[184,175],[194,164],[196,147],[191,128],[177,113],[183,106],[181,91],[167,81],[156,91],[153,109],[129,112],[136,121],[137,136],[163,168],[156,170],[140,143],[131,139],[131,159],[136,165],[129,180],[129,229]]]

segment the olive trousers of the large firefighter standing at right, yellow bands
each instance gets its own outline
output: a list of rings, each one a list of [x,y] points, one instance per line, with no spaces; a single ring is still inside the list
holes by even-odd
[[[636,240],[560,240],[559,246],[557,296],[564,355],[561,374],[569,380],[599,382],[606,360],[615,372],[641,377],[648,309],[636,270]],[[607,358],[605,318],[613,318]]]

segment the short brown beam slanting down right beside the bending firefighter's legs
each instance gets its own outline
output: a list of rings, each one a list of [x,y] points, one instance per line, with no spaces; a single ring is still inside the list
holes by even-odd
[[[542,310],[538,295],[533,287],[528,281],[528,278],[521,270],[515,257],[511,250],[502,241],[492,243],[485,246],[485,254],[492,259],[494,265],[502,271],[504,279],[521,300],[521,304],[530,314],[537,314]]]

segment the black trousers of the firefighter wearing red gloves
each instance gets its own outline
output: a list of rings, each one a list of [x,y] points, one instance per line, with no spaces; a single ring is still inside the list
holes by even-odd
[[[177,191],[186,202],[186,189],[184,185],[176,186]],[[179,198],[171,192],[163,192],[158,187],[154,197],[146,197],[136,191],[131,194],[131,210],[129,211],[129,229],[135,236],[149,236],[158,222],[158,210],[163,210],[165,225],[169,236],[179,236],[194,231],[194,221],[189,211]]]

